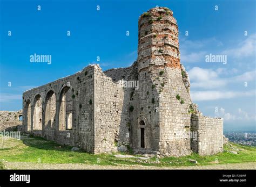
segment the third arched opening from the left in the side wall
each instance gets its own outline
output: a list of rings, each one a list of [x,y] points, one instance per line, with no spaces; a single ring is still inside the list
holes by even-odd
[[[56,127],[56,95],[52,90],[45,97],[44,125],[47,129]]]

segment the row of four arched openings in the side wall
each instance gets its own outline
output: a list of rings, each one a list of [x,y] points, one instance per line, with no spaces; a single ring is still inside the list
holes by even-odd
[[[45,98],[38,93],[31,103],[26,99],[23,117],[27,131],[33,130],[72,130],[72,93],[70,87],[62,89],[59,99],[53,90],[49,90]]]

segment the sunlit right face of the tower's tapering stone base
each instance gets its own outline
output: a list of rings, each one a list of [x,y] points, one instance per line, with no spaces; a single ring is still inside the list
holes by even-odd
[[[190,150],[190,94],[187,92],[178,68],[164,69],[163,91],[160,92],[160,153],[184,156]],[[177,98],[177,96],[179,96]]]

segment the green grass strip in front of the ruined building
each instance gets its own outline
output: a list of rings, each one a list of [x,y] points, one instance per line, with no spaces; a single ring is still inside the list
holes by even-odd
[[[0,142],[2,137],[0,137]],[[224,146],[224,152],[210,156],[199,156],[192,153],[182,157],[164,157],[157,159],[152,157],[149,160],[139,160],[137,158],[116,158],[113,154],[94,155],[86,153],[83,150],[72,152],[70,146],[61,146],[53,141],[48,141],[43,138],[35,138],[22,136],[22,140],[5,139],[4,146],[0,144],[0,169],[4,169],[1,160],[9,162],[33,162],[33,163],[85,163],[97,165],[112,165],[120,164],[143,166],[202,166],[207,164],[225,164],[225,163],[241,163],[256,161],[256,147],[241,146],[235,143],[230,143]],[[238,154],[227,152],[227,150],[237,151]],[[132,150],[129,149],[132,153]],[[130,153],[115,153],[115,154],[130,154]],[[190,159],[198,161],[198,164],[190,162]],[[218,163],[214,163],[215,160]]]

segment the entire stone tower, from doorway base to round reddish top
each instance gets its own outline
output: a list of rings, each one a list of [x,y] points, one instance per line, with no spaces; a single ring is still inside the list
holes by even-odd
[[[190,154],[190,84],[180,64],[178,26],[170,9],[153,8],[140,16],[137,63],[139,88],[130,101],[132,148]]]

